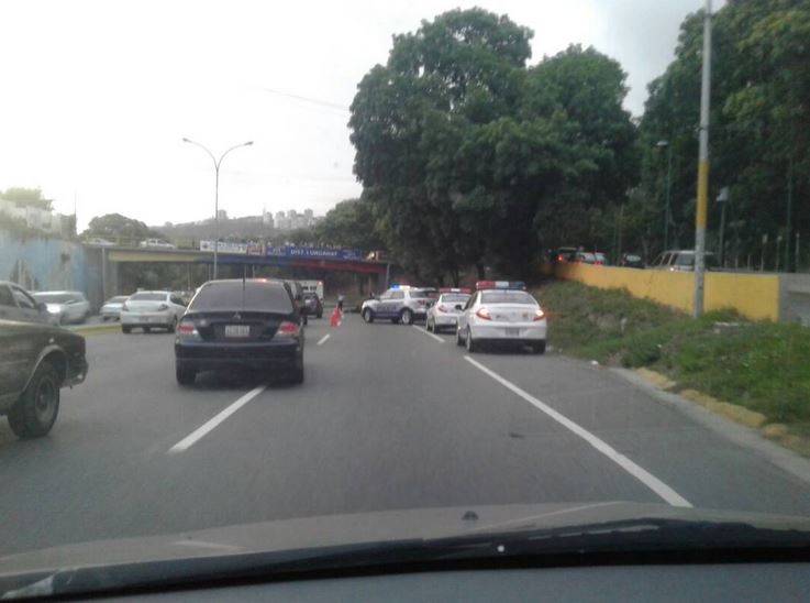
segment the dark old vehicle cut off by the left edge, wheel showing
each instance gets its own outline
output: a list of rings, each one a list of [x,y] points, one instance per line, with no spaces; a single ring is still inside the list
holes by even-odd
[[[0,320],[0,416],[20,438],[51,431],[59,413],[59,390],[85,381],[80,335],[31,322]]]

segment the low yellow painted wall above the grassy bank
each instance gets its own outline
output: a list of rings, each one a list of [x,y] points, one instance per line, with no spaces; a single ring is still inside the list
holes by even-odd
[[[692,309],[695,275],[689,272],[561,263],[555,275],[592,287],[626,289],[634,297],[686,313]],[[707,310],[733,308],[755,320],[779,318],[779,277],[776,275],[708,272],[704,286]]]

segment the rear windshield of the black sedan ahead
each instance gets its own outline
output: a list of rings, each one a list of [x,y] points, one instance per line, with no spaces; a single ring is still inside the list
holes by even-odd
[[[278,283],[212,283],[200,289],[192,310],[253,310],[289,314],[292,302]]]

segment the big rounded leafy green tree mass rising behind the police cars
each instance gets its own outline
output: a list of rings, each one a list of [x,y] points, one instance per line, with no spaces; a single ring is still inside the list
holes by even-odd
[[[532,32],[480,9],[395,36],[352,105],[355,173],[395,255],[441,281],[525,276],[543,245],[592,239],[636,174],[624,73],[572,46],[526,68]]]

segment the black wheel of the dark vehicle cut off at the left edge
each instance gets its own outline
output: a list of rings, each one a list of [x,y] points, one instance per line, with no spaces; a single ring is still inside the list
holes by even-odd
[[[40,438],[51,431],[59,414],[59,375],[43,362],[20,399],[9,410],[9,426],[20,438]]]

